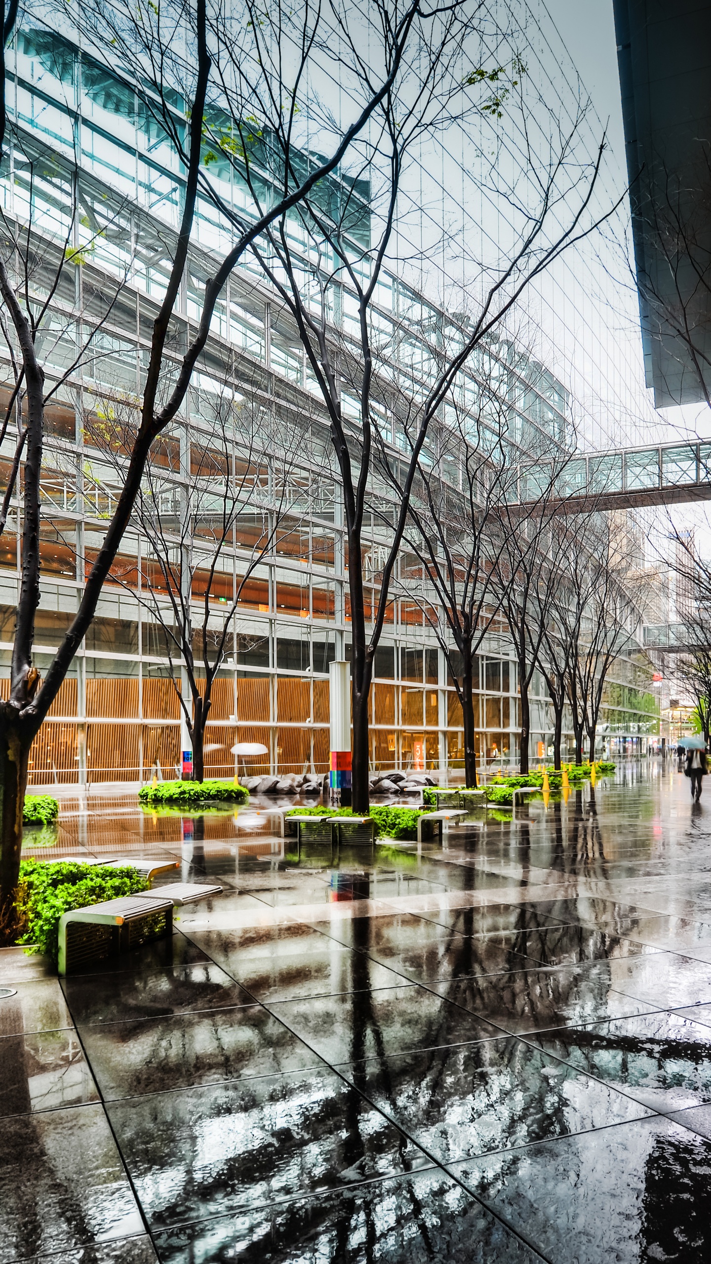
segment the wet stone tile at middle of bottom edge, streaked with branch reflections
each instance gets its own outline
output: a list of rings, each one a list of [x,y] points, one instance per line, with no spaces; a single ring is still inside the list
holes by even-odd
[[[534,1264],[500,1221],[438,1168],[256,1207],[156,1235],[162,1264]]]

